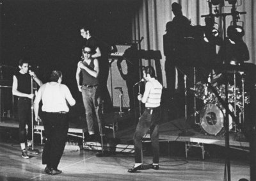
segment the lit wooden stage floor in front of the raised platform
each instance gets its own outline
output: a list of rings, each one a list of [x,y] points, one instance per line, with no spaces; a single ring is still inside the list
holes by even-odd
[[[42,152],[42,146],[36,146]],[[110,157],[96,157],[88,150],[65,150],[58,169],[63,173],[44,174],[42,153],[22,159],[20,146],[0,143],[0,180],[223,180],[225,159],[187,159],[161,156],[159,170],[147,169],[128,173],[134,164],[131,153],[116,153]],[[152,162],[144,157],[144,164]],[[250,178],[246,161],[231,161],[231,180]]]

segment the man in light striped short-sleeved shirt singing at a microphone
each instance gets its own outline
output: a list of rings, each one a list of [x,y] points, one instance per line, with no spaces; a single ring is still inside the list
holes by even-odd
[[[138,95],[138,100],[145,103],[145,111],[140,116],[133,137],[135,147],[135,164],[128,170],[130,173],[143,169],[141,158],[141,139],[145,134],[147,134],[148,130],[153,149],[153,163],[150,164],[150,168],[159,169],[158,123],[160,120],[160,102],[163,86],[156,80],[156,74],[153,67],[143,68],[143,79],[145,79],[147,83],[145,84],[143,96],[141,94]]]

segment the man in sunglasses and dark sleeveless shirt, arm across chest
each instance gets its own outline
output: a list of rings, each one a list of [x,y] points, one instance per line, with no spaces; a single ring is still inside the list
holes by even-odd
[[[82,85],[80,84],[80,73],[82,73],[81,77],[83,78]],[[83,61],[79,61],[77,64],[76,81],[78,90],[82,92],[88,133],[92,139],[95,135],[93,127],[94,111],[97,116],[100,136],[104,136],[98,75],[99,61],[97,58],[92,58],[92,49],[90,47],[84,47]]]

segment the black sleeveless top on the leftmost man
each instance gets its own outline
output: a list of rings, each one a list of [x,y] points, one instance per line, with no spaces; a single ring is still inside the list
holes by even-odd
[[[15,76],[18,80],[17,90],[21,93],[31,93],[31,76],[29,74],[21,74],[20,72],[17,72]]]

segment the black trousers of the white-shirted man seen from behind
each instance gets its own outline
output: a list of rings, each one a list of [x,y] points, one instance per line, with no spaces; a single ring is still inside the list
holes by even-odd
[[[58,169],[68,133],[68,115],[59,113],[42,113],[46,141],[42,154],[42,164]]]

